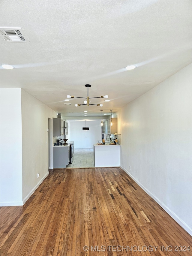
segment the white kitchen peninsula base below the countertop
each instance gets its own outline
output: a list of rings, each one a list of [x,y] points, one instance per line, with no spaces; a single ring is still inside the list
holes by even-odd
[[[94,166],[120,166],[120,146],[121,145],[94,145]]]

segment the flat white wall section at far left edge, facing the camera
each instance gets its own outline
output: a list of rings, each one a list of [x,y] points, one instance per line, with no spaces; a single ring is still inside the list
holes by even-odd
[[[22,205],[21,89],[1,88],[1,206]]]

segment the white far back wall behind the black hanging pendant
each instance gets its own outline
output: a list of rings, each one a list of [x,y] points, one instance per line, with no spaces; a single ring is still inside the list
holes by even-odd
[[[89,130],[82,130],[85,127],[85,121],[70,122],[68,140],[74,140],[74,148],[93,148],[93,145],[101,140],[101,120],[86,121],[86,127]]]

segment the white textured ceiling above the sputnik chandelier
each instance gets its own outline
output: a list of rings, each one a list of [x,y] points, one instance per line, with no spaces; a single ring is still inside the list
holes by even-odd
[[[21,27],[30,43],[1,38],[1,87],[22,88],[66,117],[101,107],[65,103],[67,94],[109,95],[119,110],[191,62],[191,1],[0,1],[1,27]],[[126,71],[125,66],[138,68]],[[74,112],[74,113],[71,113]]]

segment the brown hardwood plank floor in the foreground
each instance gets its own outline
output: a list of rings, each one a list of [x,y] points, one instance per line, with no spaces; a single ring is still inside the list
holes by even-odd
[[[192,237],[119,167],[50,171],[24,206],[0,210],[1,256],[192,255]]]

